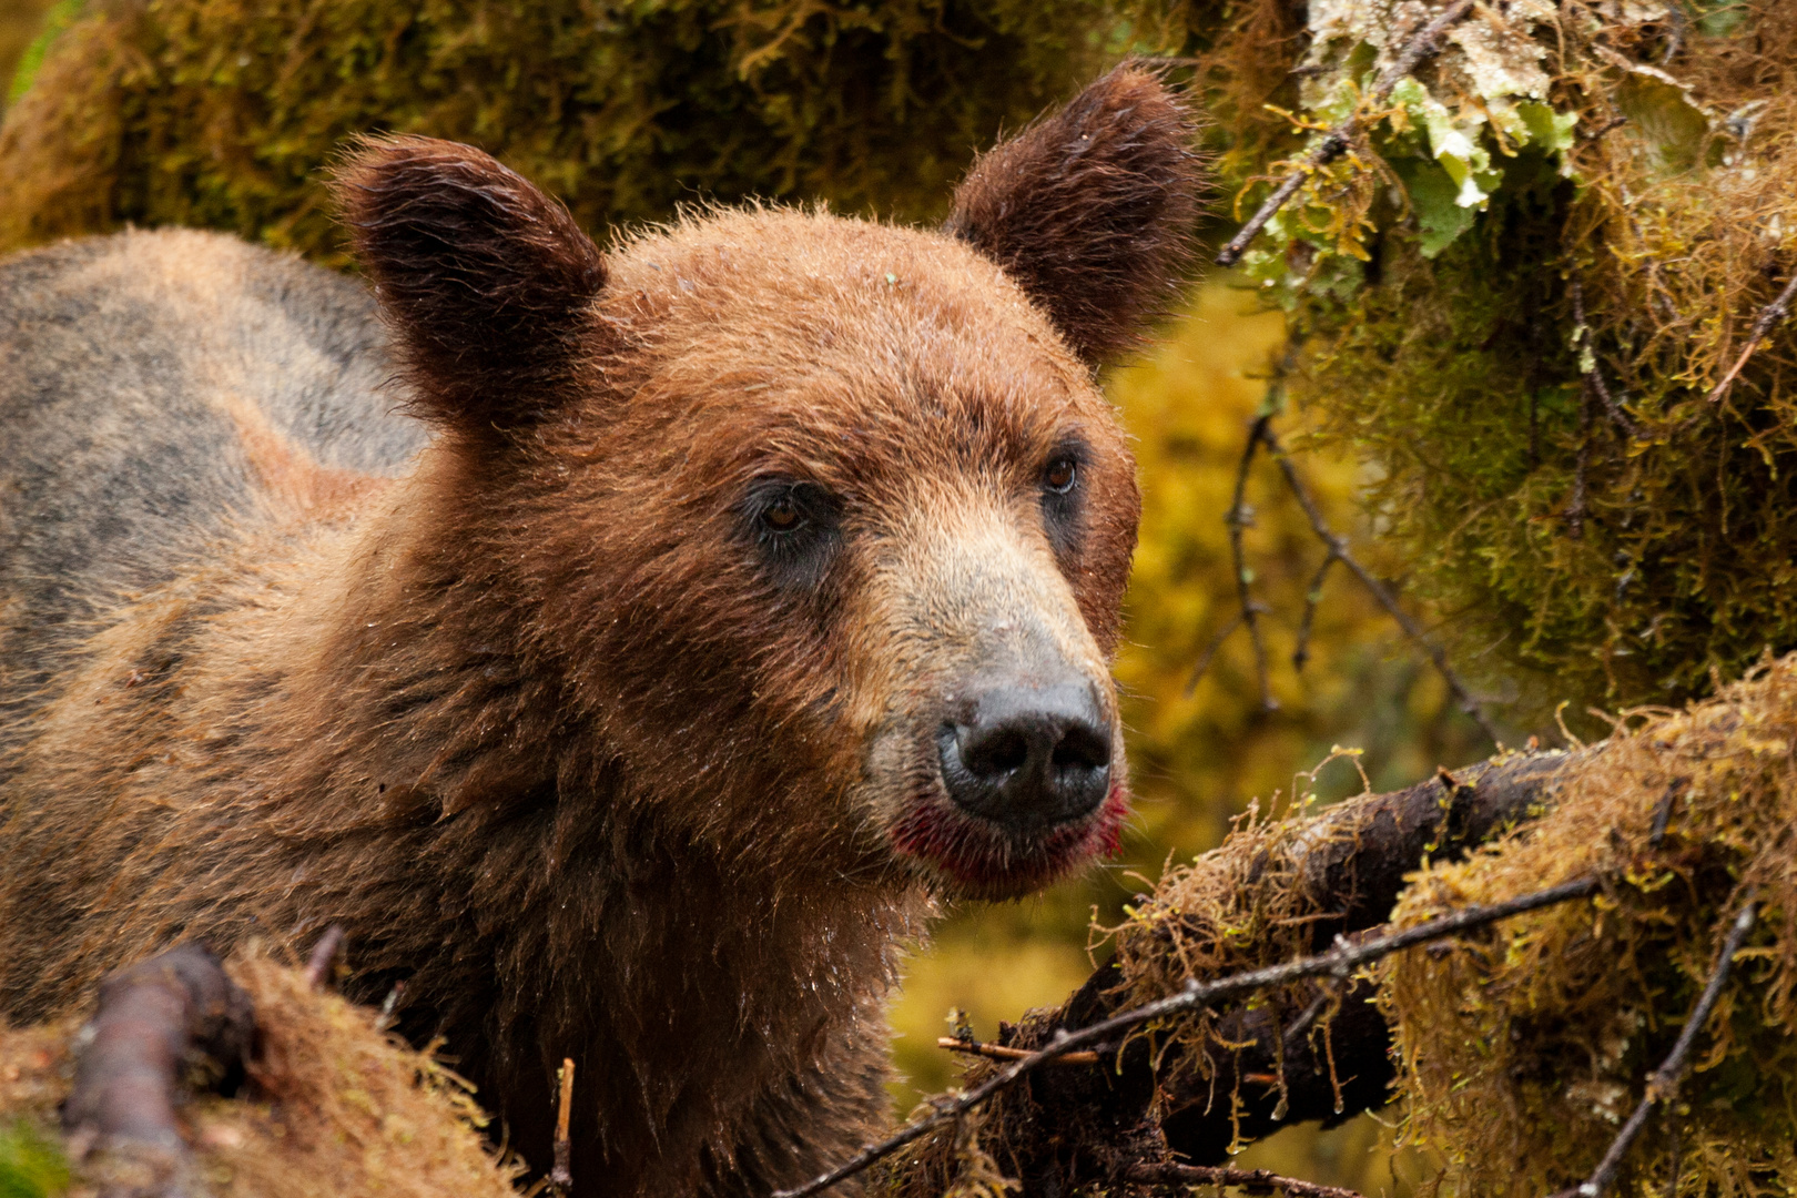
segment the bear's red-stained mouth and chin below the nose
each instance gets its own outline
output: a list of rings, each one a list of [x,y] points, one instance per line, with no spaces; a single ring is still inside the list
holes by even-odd
[[[1094,810],[1028,830],[958,806],[938,783],[911,799],[888,835],[900,857],[949,893],[1019,898],[1093,860],[1116,857],[1127,817],[1121,778],[1111,781]]]

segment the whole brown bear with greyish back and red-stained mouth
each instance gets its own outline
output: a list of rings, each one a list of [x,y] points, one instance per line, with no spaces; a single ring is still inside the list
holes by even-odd
[[[338,176],[372,293],[198,232],[0,268],[0,1011],[349,932],[536,1167],[766,1194],[886,1121],[943,898],[1118,844],[1134,462],[1188,108],[1123,66],[938,230],[600,251],[492,158]]]

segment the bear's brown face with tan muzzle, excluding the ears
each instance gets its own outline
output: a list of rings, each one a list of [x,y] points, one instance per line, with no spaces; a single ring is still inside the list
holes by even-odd
[[[814,796],[733,835],[828,875],[999,896],[1114,848],[1134,462],[1022,291],[943,237],[744,212],[629,244],[598,320],[629,383],[537,429],[570,515],[532,541],[613,735],[733,713],[692,785]]]

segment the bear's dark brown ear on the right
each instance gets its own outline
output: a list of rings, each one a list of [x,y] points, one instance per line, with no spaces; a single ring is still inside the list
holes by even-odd
[[[1125,63],[974,163],[945,232],[1005,268],[1089,363],[1136,345],[1191,260],[1197,115]]]

